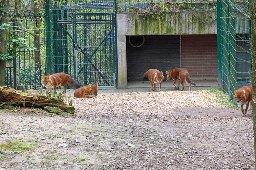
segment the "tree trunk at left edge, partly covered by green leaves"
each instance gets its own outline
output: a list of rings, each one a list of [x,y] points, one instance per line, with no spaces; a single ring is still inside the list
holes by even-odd
[[[6,11],[9,11],[9,0],[0,0],[0,4]],[[2,15],[0,13],[0,25],[9,23],[8,18],[9,13]],[[7,53],[7,41],[8,41],[8,32],[6,30],[0,30],[0,54]],[[0,60],[0,86],[4,85],[5,82],[5,69],[6,61]]]

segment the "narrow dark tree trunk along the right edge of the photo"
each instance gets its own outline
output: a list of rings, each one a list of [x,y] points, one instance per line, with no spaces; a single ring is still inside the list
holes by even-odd
[[[256,0],[251,0],[250,14],[251,14],[251,59],[252,59],[252,97],[253,97],[253,136],[254,136],[254,169],[256,170]]]

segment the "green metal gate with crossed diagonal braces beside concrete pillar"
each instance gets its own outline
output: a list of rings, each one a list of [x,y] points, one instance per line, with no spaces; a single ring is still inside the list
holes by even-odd
[[[115,87],[114,13],[74,14],[75,77],[79,84]]]

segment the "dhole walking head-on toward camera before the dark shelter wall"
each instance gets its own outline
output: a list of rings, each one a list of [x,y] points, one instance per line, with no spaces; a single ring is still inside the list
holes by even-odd
[[[157,69],[149,69],[146,73],[144,73],[142,78],[143,81],[149,79],[151,90],[154,92],[156,92],[156,84],[159,83],[159,91],[161,91],[161,83],[164,79],[162,72]]]

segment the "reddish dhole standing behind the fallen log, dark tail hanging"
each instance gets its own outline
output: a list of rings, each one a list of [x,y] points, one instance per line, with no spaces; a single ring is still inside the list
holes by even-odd
[[[41,84],[45,86],[48,90],[54,88],[54,93],[56,93],[56,87],[60,87],[63,89],[63,95],[66,94],[65,86],[68,84],[71,87],[74,87],[75,89],[79,89],[80,86],[77,84],[77,82],[71,78],[68,74],[65,73],[56,73],[53,75],[42,75],[43,78],[41,80]]]

